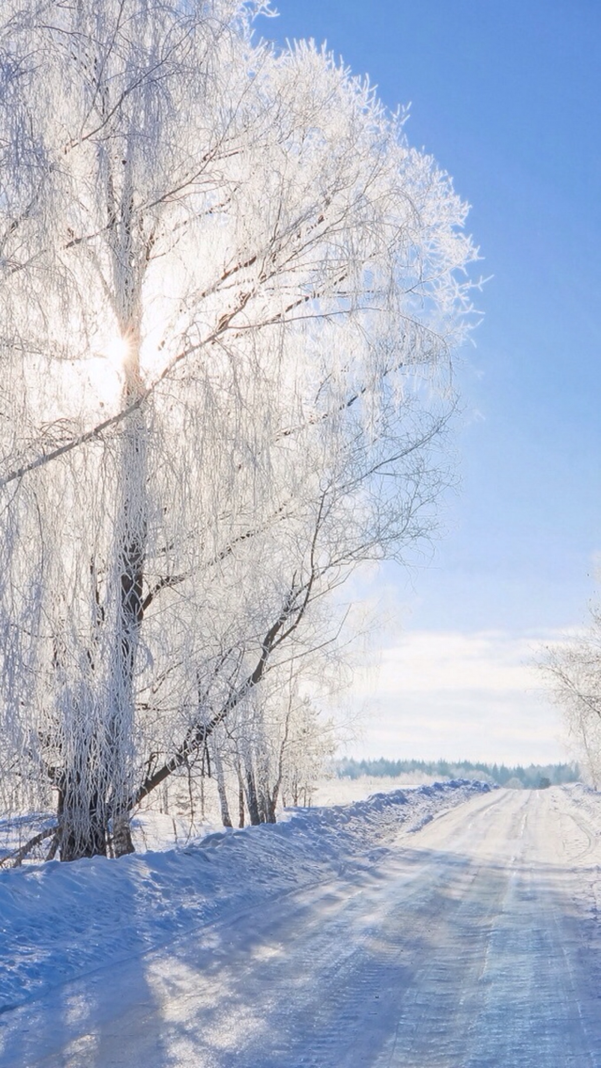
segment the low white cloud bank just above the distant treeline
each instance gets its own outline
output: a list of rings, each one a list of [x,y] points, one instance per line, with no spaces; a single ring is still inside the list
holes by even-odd
[[[351,747],[365,756],[566,759],[562,724],[533,666],[558,634],[407,632],[378,666],[358,672],[353,705],[365,727]]]

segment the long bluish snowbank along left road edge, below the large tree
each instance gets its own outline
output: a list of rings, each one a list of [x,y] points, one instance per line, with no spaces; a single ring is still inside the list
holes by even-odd
[[[280,823],[209,834],[183,850],[2,871],[0,1011],[343,866],[367,866],[399,830],[418,830],[489,789],[436,783],[347,806],[289,810]]]

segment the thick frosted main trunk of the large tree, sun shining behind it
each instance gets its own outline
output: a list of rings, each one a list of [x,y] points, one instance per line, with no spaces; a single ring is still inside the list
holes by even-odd
[[[127,288],[127,287],[126,287]],[[130,320],[131,321],[131,320]],[[142,394],[140,337],[122,327],[124,361],[123,405]],[[61,859],[107,855],[112,824],[115,857],[133,852],[130,830],[133,756],[136,658],[144,614],[143,582],[147,543],[146,417],[141,406],[123,421],[118,437],[120,484],[107,610],[104,614],[107,685],[82,706],[73,767],[63,772],[61,800]]]

